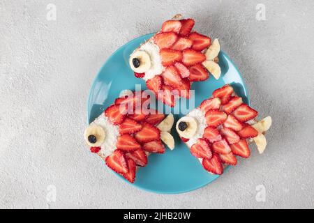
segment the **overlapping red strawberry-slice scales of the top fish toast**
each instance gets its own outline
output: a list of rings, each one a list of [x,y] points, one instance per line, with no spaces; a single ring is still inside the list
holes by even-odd
[[[138,73],[139,68],[137,66],[140,66],[140,63],[133,63],[134,59],[137,61],[138,52],[142,52],[140,47],[135,49],[135,52],[130,56],[130,64],[135,72],[135,77],[143,78],[147,88],[153,91],[156,98],[170,107],[175,105],[173,95],[190,98],[191,84],[203,82],[209,78],[209,68],[202,64],[208,60],[207,49],[216,54],[214,55],[215,58],[217,58],[220,50],[217,47],[215,50],[211,48],[211,38],[193,31],[195,24],[193,19],[181,19],[180,17],[181,15],[176,15],[175,20],[164,22],[161,30],[147,41],[147,43],[158,46],[161,65],[163,66],[162,71],[155,73],[154,77],[145,79],[145,72],[149,70],[149,66],[147,66],[148,70],[140,69],[141,72],[144,72]],[[158,93],[158,91],[163,92]]]

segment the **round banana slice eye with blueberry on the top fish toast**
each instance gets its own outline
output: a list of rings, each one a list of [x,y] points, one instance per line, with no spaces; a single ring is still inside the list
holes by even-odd
[[[147,52],[143,50],[137,50],[130,55],[130,68],[134,72],[147,72],[151,68],[151,58]]]

